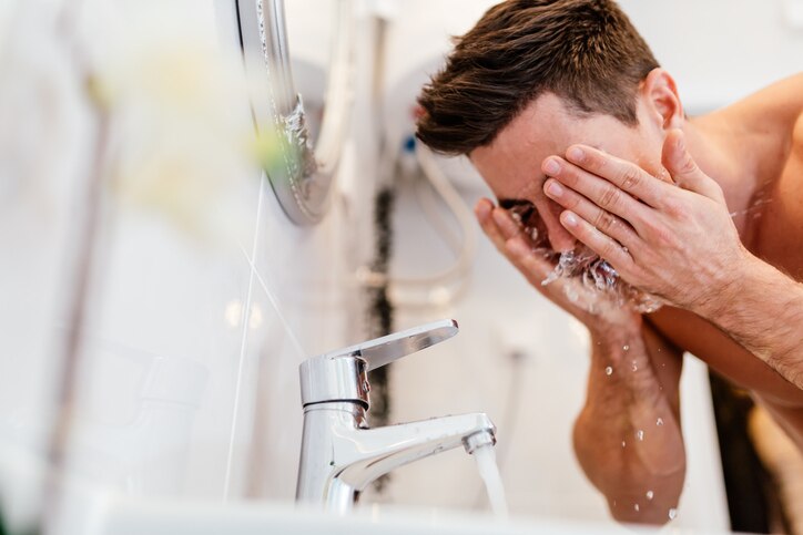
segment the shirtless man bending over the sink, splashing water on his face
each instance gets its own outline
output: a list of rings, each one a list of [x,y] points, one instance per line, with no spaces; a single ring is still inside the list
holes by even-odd
[[[688,119],[611,0],[518,0],[459,40],[419,104],[419,140],[467,154],[497,196],[476,206],[485,233],[591,333],[575,450],[616,518],[674,515],[683,351],[803,450],[803,76]],[[580,276],[553,280],[557,253]],[[644,313],[609,266],[667,306]]]

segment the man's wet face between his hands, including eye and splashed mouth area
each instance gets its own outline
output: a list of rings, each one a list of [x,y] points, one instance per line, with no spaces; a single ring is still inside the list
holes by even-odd
[[[578,117],[556,95],[547,93],[527,106],[489,145],[476,148],[470,160],[506,208],[530,237],[535,250],[550,259],[556,278],[581,279],[589,289],[607,294],[617,302],[642,310],[644,296],[622,282],[608,263],[599,258],[560,224],[562,208],[546,197],[545,158],[562,155],[575,143],[598,146],[643,165],[644,154],[660,161],[660,140],[653,131],[629,127],[618,120],[593,115]]]

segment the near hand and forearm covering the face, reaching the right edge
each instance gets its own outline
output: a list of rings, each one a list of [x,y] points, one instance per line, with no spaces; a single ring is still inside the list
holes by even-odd
[[[803,286],[742,246],[722,189],[680,131],[668,135],[663,164],[677,186],[573,146],[553,177],[571,191],[555,195],[550,181],[545,188],[569,208],[566,228],[628,282],[713,322],[803,389]]]

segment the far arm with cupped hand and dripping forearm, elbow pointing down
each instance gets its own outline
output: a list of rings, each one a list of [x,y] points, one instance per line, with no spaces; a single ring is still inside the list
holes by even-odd
[[[604,297],[589,294],[579,280],[541,285],[553,266],[533,251],[527,233],[488,199],[481,199],[476,212],[499,251],[591,333],[588,394],[573,435],[583,471],[606,495],[616,518],[665,523],[677,507],[685,473],[679,424],[680,351],[641,315],[628,307],[606,307]],[[597,312],[583,303],[594,303]]]

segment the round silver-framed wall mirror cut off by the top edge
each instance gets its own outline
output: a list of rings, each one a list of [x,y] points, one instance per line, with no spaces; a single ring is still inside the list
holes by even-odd
[[[254,125],[261,143],[276,151],[264,171],[287,217],[313,225],[328,207],[350,111],[352,2],[335,2],[325,106],[314,141],[293,78],[283,0],[235,2]]]

